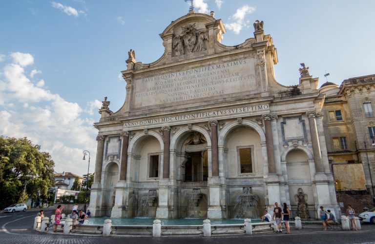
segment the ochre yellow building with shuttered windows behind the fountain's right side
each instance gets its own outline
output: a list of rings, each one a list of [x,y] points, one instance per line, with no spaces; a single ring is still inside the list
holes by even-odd
[[[375,75],[350,78],[340,86],[326,82],[319,93],[325,94],[323,127],[336,191],[373,194]]]

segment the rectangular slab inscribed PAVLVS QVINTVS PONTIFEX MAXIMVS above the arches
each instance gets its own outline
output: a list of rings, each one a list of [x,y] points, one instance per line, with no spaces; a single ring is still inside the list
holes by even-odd
[[[249,58],[136,80],[133,106],[193,102],[244,91],[255,93],[257,90],[255,61]]]

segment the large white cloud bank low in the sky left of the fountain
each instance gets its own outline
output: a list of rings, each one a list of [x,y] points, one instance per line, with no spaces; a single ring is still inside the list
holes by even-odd
[[[0,66],[3,73],[0,76],[0,135],[27,137],[51,154],[55,171],[84,174],[87,162],[82,161],[82,151],[89,150],[92,159],[96,156],[97,130],[92,123],[97,119],[84,116],[87,114],[83,114],[85,110],[77,102],[65,101],[59,94],[38,87],[44,85],[44,80],[33,84],[22,67],[33,63],[32,55],[11,56],[13,59],[9,61],[13,62]],[[89,104],[92,112],[101,102],[95,100]],[[93,170],[94,163],[90,172]]]

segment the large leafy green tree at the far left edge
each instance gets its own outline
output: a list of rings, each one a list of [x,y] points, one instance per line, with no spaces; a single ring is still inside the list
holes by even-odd
[[[44,203],[50,197],[55,163],[40,149],[27,138],[0,136],[0,209],[27,198]]]

